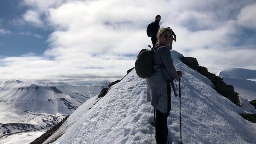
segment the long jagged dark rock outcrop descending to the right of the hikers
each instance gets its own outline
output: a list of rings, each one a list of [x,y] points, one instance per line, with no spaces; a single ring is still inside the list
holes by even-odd
[[[234,87],[232,85],[225,84],[221,77],[216,76],[208,72],[207,68],[199,66],[196,58],[192,57],[182,57],[180,58],[183,63],[188,65],[188,67],[193,68],[194,70],[198,71],[201,75],[206,76],[209,78],[215,86],[215,90],[220,93],[220,95],[228,98],[234,104],[240,106],[240,101],[238,99],[238,94],[235,92]]]

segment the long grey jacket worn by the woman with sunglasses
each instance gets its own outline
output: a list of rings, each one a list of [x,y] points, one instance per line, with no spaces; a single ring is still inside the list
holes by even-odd
[[[154,65],[154,70],[159,65],[164,64],[165,68],[162,70],[166,79],[179,80],[177,71],[173,66],[171,51],[166,46],[161,46],[155,50],[154,64],[157,64]],[[147,78],[147,101],[150,101],[150,104],[160,112],[167,114],[167,84],[164,75],[161,68],[158,68],[150,78]]]

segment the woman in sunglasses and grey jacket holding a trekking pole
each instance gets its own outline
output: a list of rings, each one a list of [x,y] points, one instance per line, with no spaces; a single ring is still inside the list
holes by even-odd
[[[156,142],[167,143],[167,117],[171,110],[171,86],[174,78],[182,76],[173,66],[172,56],[167,45],[172,38],[171,29],[160,28],[157,32],[157,43],[154,53],[154,74],[147,79],[147,100],[156,109]]]

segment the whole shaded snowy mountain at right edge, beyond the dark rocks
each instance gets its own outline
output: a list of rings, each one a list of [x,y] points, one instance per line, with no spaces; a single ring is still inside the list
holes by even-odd
[[[216,74],[223,78],[226,84],[234,86],[239,96],[249,101],[256,100],[256,70],[244,68],[230,68]]]

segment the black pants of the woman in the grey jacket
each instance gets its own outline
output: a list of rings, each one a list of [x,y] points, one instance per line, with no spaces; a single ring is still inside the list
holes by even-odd
[[[168,137],[167,118],[171,111],[171,84],[170,80],[167,80],[167,101],[168,101],[168,113],[163,114],[156,109],[156,142],[158,144],[165,144]]]

